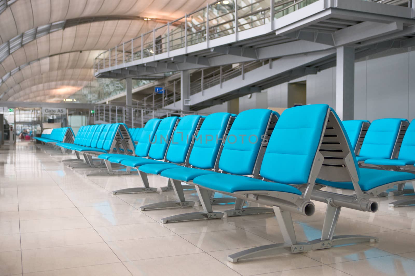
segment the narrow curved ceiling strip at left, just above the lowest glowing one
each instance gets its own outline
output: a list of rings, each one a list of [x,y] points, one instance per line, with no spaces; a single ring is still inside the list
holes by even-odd
[[[39,74],[12,86],[2,97],[2,101],[7,101],[10,97],[18,94],[20,91],[39,84],[58,82],[58,81],[91,81],[94,78],[93,70],[90,68],[84,69],[68,69],[51,71]]]

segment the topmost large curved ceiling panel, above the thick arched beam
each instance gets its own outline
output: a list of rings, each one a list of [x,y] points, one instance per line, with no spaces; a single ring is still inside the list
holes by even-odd
[[[18,0],[0,14],[0,44],[30,29],[65,19],[134,16],[176,19],[204,7],[205,0]]]

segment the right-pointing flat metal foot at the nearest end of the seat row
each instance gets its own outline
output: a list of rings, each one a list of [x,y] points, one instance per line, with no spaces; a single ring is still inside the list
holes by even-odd
[[[364,235],[338,235],[333,236],[332,239],[322,240],[311,240],[308,243],[312,245],[312,250],[320,250],[330,248],[334,245],[347,245],[361,242],[378,242],[378,238]]]

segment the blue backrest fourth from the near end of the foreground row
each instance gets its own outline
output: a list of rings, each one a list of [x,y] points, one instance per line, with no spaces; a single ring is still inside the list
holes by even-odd
[[[173,163],[184,163],[190,144],[198,127],[200,115],[187,115],[180,119],[168,145],[166,159]],[[215,137],[216,138],[216,137]]]

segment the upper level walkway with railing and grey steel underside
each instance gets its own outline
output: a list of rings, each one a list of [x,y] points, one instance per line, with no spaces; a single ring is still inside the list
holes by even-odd
[[[340,46],[415,45],[414,9],[381,2],[216,2],[101,53],[95,58],[94,73],[96,77],[145,78]]]

